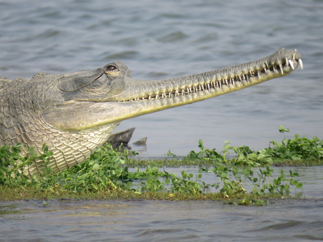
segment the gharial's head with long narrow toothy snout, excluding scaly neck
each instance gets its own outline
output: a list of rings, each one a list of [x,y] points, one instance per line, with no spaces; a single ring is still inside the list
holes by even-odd
[[[93,129],[124,119],[176,107],[285,76],[298,65],[296,50],[279,49],[258,61],[159,81],[132,79],[122,62],[58,79],[63,101],[43,110],[51,127],[70,132]]]

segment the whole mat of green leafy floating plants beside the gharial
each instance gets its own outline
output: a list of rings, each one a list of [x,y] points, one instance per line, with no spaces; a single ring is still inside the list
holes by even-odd
[[[280,127],[280,132],[288,129]],[[225,142],[221,152],[207,149],[202,140],[199,151],[191,151],[176,163],[200,165],[197,174],[182,171],[169,173],[168,160],[154,160],[149,164],[135,158],[135,151],[118,151],[106,144],[98,148],[79,165],[57,174],[46,164],[52,152],[44,145],[41,154],[28,148],[21,154],[21,145],[0,148],[0,199],[224,199],[231,204],[264,205],[269,197],[298,196],[302,184],[298,174],[283,169],[273,175],[273,165],[313,165],[323,161],[323,141],[295,135],[281,143],[270,142],[270,147],[251,151],[247,146],[234,147]],[[171,153],[171,152],[169,152]],[[230,158],[231,157],[231,158]],[[43,160],[43,173],[28,178],[23,174],[26,165]],[[164,163],[163,163],[164,162]],[[144,169],[138,168],[145,165]],[[129,167],[135,167],[129,169]],[[162,166],[162,167],[160,167]],[[205,184],[205,172],[214,174],[214,182]],[[245,188],[248,184],[248,191]],[[136,185],[136,186],[135,186]],[[213,188],[216,193],[207,193]]]

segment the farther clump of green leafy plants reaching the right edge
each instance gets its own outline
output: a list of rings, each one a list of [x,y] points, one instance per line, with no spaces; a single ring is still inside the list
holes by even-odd
[[[289,132],[283,126],[279,126],[279,132]],[[268,148],[252,151],[248,146],[231,146],[229,141],[225,141],[222,151],[216,151],[215,148],[207,149],[203,146],[203,141],[198,141],[198,152],[190,151],[184,159],[194,160],[202,159],[207,162],[213,162],[214,166],[219,163],[260,166],[265,164],[286,163],[286,164],[313,164],[321,165],[323,163],[323,140],[313,137],[308,139],[298,134],[294,138],[284,138],[282,142],[270,141]],[[169,151],[171,153],[171,151]],[[231,157],[231,158],[228,158]]]

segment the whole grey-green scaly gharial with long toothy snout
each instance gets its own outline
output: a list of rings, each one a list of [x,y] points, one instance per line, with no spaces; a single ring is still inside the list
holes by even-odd
[[[258,61],[159,81],[132,79],[122,62],[69,74],[0,78],[0,146],[17,143],[53,152],[55,171],[85,160],[124,119],[240,90],[291,73],[301,55],[279,49]],[[43,161],[24,171],[40,174]]]

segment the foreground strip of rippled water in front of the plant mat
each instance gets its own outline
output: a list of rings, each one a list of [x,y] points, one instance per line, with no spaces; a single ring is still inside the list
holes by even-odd
[[[19,201],[0,212],[0,241],[323,240],[322,200],[265,207],[213,201]]]

